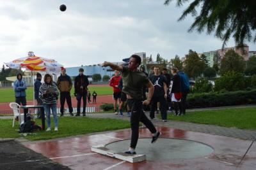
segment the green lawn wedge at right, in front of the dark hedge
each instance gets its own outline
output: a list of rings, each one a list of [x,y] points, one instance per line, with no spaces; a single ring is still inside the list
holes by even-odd
[[[182,117],[168,115],[168,120],[256,130],[256,108],[193,111]]]

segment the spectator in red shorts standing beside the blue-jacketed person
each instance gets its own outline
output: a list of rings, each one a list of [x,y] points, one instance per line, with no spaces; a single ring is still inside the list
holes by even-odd
[[[182,115],[181,111],[181,104],[180,104],[180,99],[181,99],[181,87],[180,87],[180,76],[177,74],[177,68],[173,67],[172,68],[172,80],[170,83],[170,98],[172,99],[172,102],[174,103],[174,110],[175,110],[175,116]],[[178,112],[179,108],[179,112]]]

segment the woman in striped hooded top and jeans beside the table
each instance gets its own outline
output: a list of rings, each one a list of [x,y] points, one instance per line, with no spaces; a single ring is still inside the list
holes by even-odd
[[[42,99],[44,104],[44,110],[46,113],[46,122],[48,128],[46,131],[51,131],[51,110],[54,120],[54,131],[58,131],[58,117],[57,117],[57,99],[58,99],[58,88],[52,81],[50,74],[45,74],[44,83],[40,86],[39,97]]]

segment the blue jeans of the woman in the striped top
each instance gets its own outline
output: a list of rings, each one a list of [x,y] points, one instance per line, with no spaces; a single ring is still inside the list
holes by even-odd
[[[55,127],[58,127],[58,117],[57,117],[57,106],[56,104],[44,104],[44,111],[46,114],[46,122],[48,127],[51,127],[51,110],[52,110],[52,115],[53,115],[53,120],[54,120],[54,125]]]

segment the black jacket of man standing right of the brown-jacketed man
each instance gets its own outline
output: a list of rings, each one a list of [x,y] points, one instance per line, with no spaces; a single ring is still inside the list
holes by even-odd
[[[86,94],[87,93],[87,86],[89,85],[88,77],[86,75],[76,76],[75,78],[75,94]],[[81,89],[83,87],[83,89]]]

